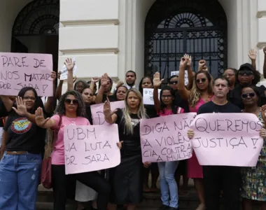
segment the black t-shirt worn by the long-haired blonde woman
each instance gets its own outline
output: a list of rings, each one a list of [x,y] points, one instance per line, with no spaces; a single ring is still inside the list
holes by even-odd
[[[118,134],[119,140],[124,141],[121,149],[121,157],[131,157],[134,155],[141,155],[141,137],[139,134],[139,123],[140,119],[137,114],[131,114],[131,123],[133,126],[133,134],[127,134],[125,130],[125,118],[123,118],[123,110],[118,109],[116,112],[118,119],[116,123],[118,124]]]

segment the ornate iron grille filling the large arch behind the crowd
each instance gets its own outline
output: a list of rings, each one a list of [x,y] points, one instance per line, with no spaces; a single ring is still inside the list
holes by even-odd
[[[160,2],[163,1],[161,0]],[[152,76],[153,73],[159,71],[162,78],[169,78],[171,71],[179,71],[179,62],[185,53],[193,57],[194,71],[197,71],[200,59],[207,61],[209,72],[214,77],[220,75],[226,69],[226,25],[216,26],[217,22],[215,20],[212,22],[201,13],[196,13],[197,6],[195,2],[192,3],[192,5],[186,3],[184,8],[186,12],[181,12],[182,7],[179,7],[176,15],[172,15],[173,11],[167,10],[170,15],[162,21],[159,21],[158,18],[158,20],[155,19],[155,22],[151,22],[152,18],[147,17],[146,75]],[[170,3],[168,5],[171,6]],[[189,12],[189,7],[191,7],[193,12]],[[153,10],[153,7],[151,10]],[[219,21],[220,23],[225,23],[226,18],[223,21],[221,19]]]

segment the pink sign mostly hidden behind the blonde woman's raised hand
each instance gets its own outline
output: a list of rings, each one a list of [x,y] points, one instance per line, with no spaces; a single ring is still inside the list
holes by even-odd
[[[123,109],[125,108],[125,101],[118,102],[110,102],[111,111],[115,109]],[[94,104],[90,106],[90,110],[92,111],[92,120],[93,125],[109,125],[104,120],[104,104]]]

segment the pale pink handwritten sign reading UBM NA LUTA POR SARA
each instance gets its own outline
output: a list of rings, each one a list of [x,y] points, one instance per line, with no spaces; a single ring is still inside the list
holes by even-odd
[[[108,138],[106,138],[108,137]],[[109,169],[120,164],[118,125],[64,127],[66,174]]]

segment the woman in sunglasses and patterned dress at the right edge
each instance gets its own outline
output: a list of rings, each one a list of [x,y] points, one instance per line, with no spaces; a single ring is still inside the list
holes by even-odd
[[[258,116],[262,123],[260,137],[265,140],[265,109],[258,106],[260,100],[260,91],[255,85],[243,87],[241,90],[241,99],[244,104],[243,113],[253,113]],[[255,167],[241,168],[241,197],[244,210],[252,210],[254,202],[258,202],[262,210],[266,210],[266,141],[260,151],[257,165]]]

